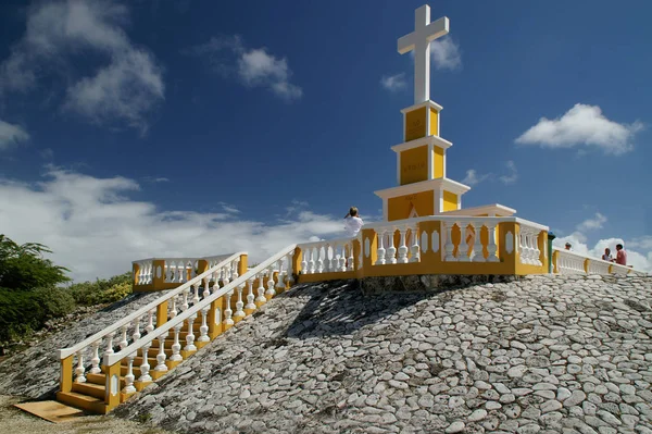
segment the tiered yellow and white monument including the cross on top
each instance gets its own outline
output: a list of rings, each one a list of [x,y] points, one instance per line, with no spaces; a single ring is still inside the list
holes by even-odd
[[[383,199],[385,221],[426,215],[509,216],[516,210],[500,204],[462,210],[469,186],[446,176],[446,152],[453,144],[439,136],[443,109],[430,100],[430,42],[449,33],[449,18],[430,22],[427,4],[415,12],[414,32],[399,39],[401,54],[414,51],[414,104],[403,113],[403,142],[397,153],[398,187],[375,191]]]

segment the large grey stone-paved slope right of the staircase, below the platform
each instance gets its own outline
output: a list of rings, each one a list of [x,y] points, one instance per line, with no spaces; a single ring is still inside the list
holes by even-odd
[[[298,286],[116,414],[192,433],[652,433],[651,295],[650,277]]]

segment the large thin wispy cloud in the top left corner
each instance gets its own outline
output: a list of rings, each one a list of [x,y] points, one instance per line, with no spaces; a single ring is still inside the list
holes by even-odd
[[[24,37],[0,65],[0,90],[28,91],[46,74],[63,74],[64,109],[97,124],[125,122],[145,132],[148,114],[164,98],[162,72],[152,54],[131,44],[125,7],[108,1],[51,1],[29,8]],[[104,60],[90,76],[74,65]]]

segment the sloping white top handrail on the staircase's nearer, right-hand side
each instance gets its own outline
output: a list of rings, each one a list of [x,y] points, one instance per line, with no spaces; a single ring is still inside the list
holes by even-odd
[[[238,286],[247,283],[247,281],[254,277],[260,272],[268,270],[272,264],[276,263],[278,260],[280,260],[281,258],[284,258],[285,256],[290,253],[296,248],[297,248],[297,245],[293,244],[293,245],[290,245],[290,246],[281,249],[279,252],[277,252],[273,257],[261,262],[254,269],[249,270],[247,273],[242,274],[241,276],[238,276],[238,278],[230,282],[228,285],[225,285],[222,288],[220,288],[218,290],[211,294],[210,296],[204,297],[197,305],[185,310],[180,314],[178,314],[175,318],[173,318],[172,320],[167,321],[162,326],[154,328],[151,333],[148,333],[147,335],[142,336],[140,339],[136,340],[135,343],[131,343],[131,345],[127,346],[126,348],[121,349],[118,352],[114,352],[112,355],[105,354],[104,359],[103,359],[103,364],[106,367],[111,367],[111,365],[120,362],[125,357],[136,354],[136,351],[138,351],[140,348],[142,348],[148,343],[151,343],[152,340],[154,340],[159,336],[163,335],[164,333],[167,334],[170,332],[170,330],[174,328],[177,324],[184,323],[184,321],[186,321],[188,318],[193,317],[199,311],[209,308],[210,305],[213,301],[215,301],[217,298],[223,297],[224,295],[226,295],[227,293],[230,293],[233,289],[237,288]]]

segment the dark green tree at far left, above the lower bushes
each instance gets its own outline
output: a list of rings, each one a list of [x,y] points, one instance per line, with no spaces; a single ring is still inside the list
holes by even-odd
[[[54,265],[43,253],[52,251],[38,243],[17,245],[0,234],[0,288],[33,289],[68,282],[70,270]]]

